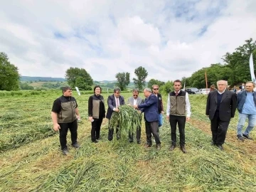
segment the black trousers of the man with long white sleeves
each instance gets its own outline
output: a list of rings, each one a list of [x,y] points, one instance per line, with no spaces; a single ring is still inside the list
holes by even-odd
[[[185,124],[186,116],[177,116],[170,114],[169,122],[171,125],[171,144],[176,145],[176,127],[178,123],[178,132],[180,134],[180,146],[185,145]]]

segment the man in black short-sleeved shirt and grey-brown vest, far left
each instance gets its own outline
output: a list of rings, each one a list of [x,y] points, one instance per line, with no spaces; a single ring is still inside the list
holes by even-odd
[[[67,134],[70,129],[72,146],[78,145],[78,103],[72,97],[71,87],[63,87],[63,95],[53,102],[51,117],[53,119],[53,129],[60,132],[60,146],[64,155],[68,154]]]

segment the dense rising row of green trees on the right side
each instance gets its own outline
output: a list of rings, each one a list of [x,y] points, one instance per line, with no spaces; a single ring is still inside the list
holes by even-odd
[[[189,78],[182,78],[186,87],[206,87],[205,74],[207,75],[208,87],[216,84],[218,80],[227,80],[228,85],[241,85],[242,82],[252,80],[250,75],[249,59],[253,55],[254,73],[256,72],[256,41],[252,38],[245,41],[245,44],[235,48],[233,53],[223,55],[224,63],[211,64],[208,68],[201,68]]]

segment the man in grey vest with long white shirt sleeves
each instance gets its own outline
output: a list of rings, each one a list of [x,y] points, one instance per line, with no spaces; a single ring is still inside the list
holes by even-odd
[[[181,90],[181,80],[174,81],[174,91],[169,93],[166,117],[171,124],[171,148],[176,147],[176,126],[180,133],[181,151],[186,154],[185,149],[185,124],[191,116],[191,105],[188,100],[188,93]]]

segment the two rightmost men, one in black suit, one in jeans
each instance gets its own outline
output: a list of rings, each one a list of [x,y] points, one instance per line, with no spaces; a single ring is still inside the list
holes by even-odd
[[[249,81],[243,84],[242,90],[238,93],[227,90],[228,82],[219,80],[218,89],[209,92],[206,115],[210,119],[210,129],[212,132],[212,144],[223,150],[223,144],[230,124],[230,119],[235,117],[235,111],[238,109],[237,137],[244,142],[250,139],[250,132],[256,125],[256,93],[253,91],[255,82]],[[248,119],[248,125],[245,132],[242,128]]]

